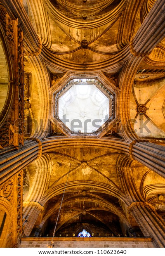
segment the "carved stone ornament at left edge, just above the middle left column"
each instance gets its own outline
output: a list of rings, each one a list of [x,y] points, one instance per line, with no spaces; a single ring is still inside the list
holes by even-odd
[[[10,123],[5,123],[0,128],[0,146],[9,147],[14,139],[14,128]]]

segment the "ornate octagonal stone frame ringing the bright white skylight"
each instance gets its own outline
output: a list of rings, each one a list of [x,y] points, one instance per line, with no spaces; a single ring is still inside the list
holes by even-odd
[[[84,84],[84,80],[86,80],[87,85],[95,85],[95,87],[102,92],[102,94],[104,96],[106,96],[106,98],[108,98],[108,102],[109,102],[109,109],[108,109],[108,119],[102,123],[102,125],[95,131],[93,132],[81,132],[79,131],[73,131],[71,130],[67,124],[63,123],[63,120],[61,120],[59,118],[59,99],[69,90],[71,89],[71,87],[73,85],[80,85],[80,84]],[[104,126],[105,123],[110,123],[113,119],[115,119],[115,93],[111,92],[110,90],[108,90],[106,88],[105,85],[103,85],[103,83],[101,83],[97,78],[72,78],[70,81],[68,81],[68,83],[61,89],[59,90],[59,92],[57,92],[57,94],[55,95],[55,115],[54,117],[56,117],[58,120],[60,120],[64,125],[65,128],[68,129],[70,131],[71,134],[78,134],[78,133],[82,133],[82,134],[94,134],[94,133],[98,133],[99,130],[101,129],[102,126]]]

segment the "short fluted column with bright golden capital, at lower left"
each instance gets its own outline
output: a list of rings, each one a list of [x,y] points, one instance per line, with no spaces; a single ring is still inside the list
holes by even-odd
[[[39,203],[32,201],[24,201],[23,205],[23,231],[24,235],[29,236],[39,214],[43,211],[44,207],[41,206]]]

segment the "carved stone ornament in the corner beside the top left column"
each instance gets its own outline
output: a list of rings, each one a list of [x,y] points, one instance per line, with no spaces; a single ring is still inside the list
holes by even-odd
[[[14,43],[14,28],[12,19],[7,13],[7,9],[3,5],[0,5],[0,21],[3,29],[5,30],[8,41]]]

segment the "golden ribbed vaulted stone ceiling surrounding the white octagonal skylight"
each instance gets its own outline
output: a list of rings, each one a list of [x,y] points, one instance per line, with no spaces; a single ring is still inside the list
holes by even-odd
[[[33,56],[25,35],[25,137],[47,143],[42,157],[24,170],[24,201],[44,206],[35,223],[43,232],[52,234],[66,186],[57,232],[100,225],[103,234],[125,235],[137,226],[127,211],[131,196],[121,178],[126,173],[140,199],[165,213],[159,197],[164,179],[135,160],[120,168],[130,137],[165,138],[165,41],[136,62],[130,50],[154,2],[23,0],[39,45]],[[115,95],[115,118],[94,134],[73,134],[55,115],[57,94],[74,78],[96,79]]]

